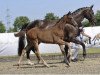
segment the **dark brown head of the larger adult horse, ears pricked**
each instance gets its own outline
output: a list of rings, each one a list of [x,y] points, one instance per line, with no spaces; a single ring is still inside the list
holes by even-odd
[[[84,10],[83,14],[84,14],[84,17],[89,20],[91,25],[95,25],[96,24],[96,19],[95,19],[94,12],[93,12],[92,8],[93,8],[93,5],[90,6],[90,7],[87,7]]]

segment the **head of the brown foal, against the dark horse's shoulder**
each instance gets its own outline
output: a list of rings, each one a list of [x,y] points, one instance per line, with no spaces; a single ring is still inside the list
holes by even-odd
[[[75,27],[78,26],[70,11],[68,12],[68,14],[64,15],[64,19],[66,20],[66,23],[72,24]]]

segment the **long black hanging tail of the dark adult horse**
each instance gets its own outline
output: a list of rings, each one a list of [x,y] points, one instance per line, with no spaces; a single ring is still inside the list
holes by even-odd
[[[18,55],[21,56],[22,54],[22,50],[25,47],[25,36],[21,36],[19,37],[19,41],[18,41]]]

